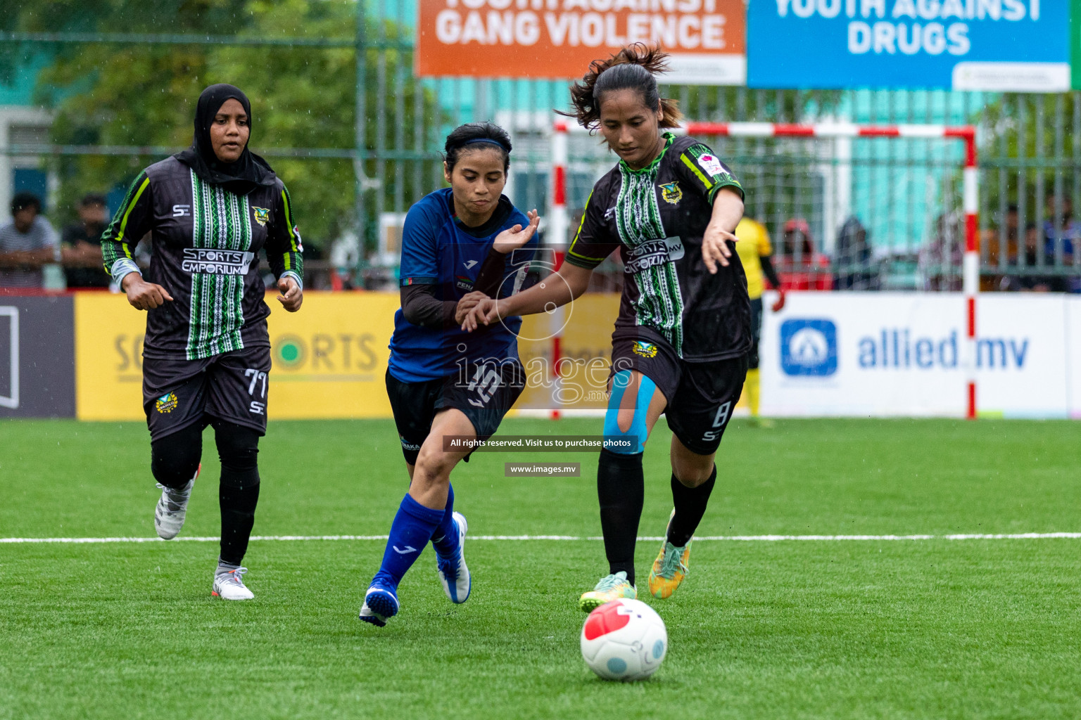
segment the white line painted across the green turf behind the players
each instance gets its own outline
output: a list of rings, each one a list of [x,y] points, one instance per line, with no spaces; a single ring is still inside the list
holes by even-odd
[[[376,540],[385,541],[387,535],[252,535],[252,540],[276,540],[276,541],[308,541],[308,540]],[[1051,540],[1051,539],[1081,539],[1081,532],[1017,532],[1017,533],[961,533],[949,535],[704,535],[695,536],[695,540],[703,541],[729,541],[729,542],[785,542],[785,541],[813,541],[813,542],[842,542],[842,541],[896,541],[896,540]],[[0,544],[41,544],[41,543],[67,543],[67,544],[101,544],[101,543],[163,543],[163,542],[189,542],[189,543],[216,543],[216,536],[190,536],[175,538],[174,540],[162,540],[161,538],[0,538]],[[556,540],[556,541],[580,541],[580,540],[602,540],[600,535],[469,535],[469,540]],[[642,541],[664,540],[660,535],[646,535],[639,538]]]

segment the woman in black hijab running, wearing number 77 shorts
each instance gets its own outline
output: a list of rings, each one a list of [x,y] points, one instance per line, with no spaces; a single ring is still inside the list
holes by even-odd
[[[146,310],[143,407],[150,471],[162,489],[158,535],[175,538],[199,476],[202,431],[222,460],[222,548],[212,594],[253,597],[241,567],[259,495],[258,439],[266,433],[270,338],[258,270],[266,252],[278,301],[303,301],[303,247],[289,191],[248,149],[251,104],[232,85],[199,96],[191,147],[135,178],[103,236],[105,269]],[[150,267],[133,260],[150,233]]]

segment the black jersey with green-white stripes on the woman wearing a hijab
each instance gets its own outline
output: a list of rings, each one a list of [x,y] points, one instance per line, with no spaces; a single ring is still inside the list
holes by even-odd
[[[120,281],[138,272],[132,250],[150,233],[146,279],[172,302],[147,314],[144,355],[199,359],[269,345],[270,309],[259,249],[276,277],[303,277],[301,233],[280,179],[238,195],[169,158],[139,173],[102,236],[105,269]]]

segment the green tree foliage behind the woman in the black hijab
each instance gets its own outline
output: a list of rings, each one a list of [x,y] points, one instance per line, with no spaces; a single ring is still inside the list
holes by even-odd
[[[22,29],[99,32],[199,33],[272,39],[310,37],[351,41],[357,4],[347,0],[203,0],[141,3],[133,0],[42,3],[26,11]],[[88,9],[91,9],[88,11]],[[371,22],[370,22],[371,23]],[[375,28],[369,28],[372,32]],[[387,27],[397,38],[400,28]],[[376,50],[370,49],[368,107],[375,106]],[[388,72],[406,68],[405,121],[419,110],[433,118],[430,92],[414,98],[412,56],[384,51]],[[252,101],[254,152],[273,148],[349,149],[355,144],[356,53],[352,47],[237,44],[61,45],[38,80],[38,98],[56,112],[53,141],[61,145],[165,146],[191,141],[195,104],[203,87],[228,82]],[[375,147],[368,123],[365,145]],[[426,134],[426,137],[429,134]],[[272,153],[268,153],[272,154]],[[129,181],[160,157],[67,155],[61,161],[61,205],[74,207],[90,190]],[[355,173],[349,159],[269,157],[285,181],[311,248],[325,247],[355,221]],[[430,174],[429,174],[430,176]],[[383,191],[390,192],[385,182]],[[428,188],[425,188],[427,190]],[[422,190],[423,192],[423,190]]]

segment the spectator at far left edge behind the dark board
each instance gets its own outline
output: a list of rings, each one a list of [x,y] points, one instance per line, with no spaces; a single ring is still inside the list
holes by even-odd
[[[12,220],[0,226],[0,287],[40,288],[42,266],[61,259],[56,231],[40,213],[37,195],[12,198]]]

